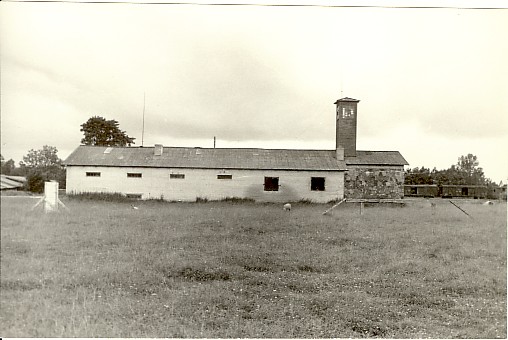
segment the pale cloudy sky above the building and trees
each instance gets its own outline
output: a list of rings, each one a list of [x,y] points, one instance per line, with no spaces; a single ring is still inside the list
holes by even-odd
[[[65,159],[92,116],[135,146],[331,150],[351,97],[359,150],[438,170],[472,153],[508,181],[502,1],[235,3],[1,2],[3,157]]]

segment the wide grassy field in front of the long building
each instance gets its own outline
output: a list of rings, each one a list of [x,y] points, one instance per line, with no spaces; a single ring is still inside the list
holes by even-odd
[[[2,197],[4,337],[506,338],[506,203]]]

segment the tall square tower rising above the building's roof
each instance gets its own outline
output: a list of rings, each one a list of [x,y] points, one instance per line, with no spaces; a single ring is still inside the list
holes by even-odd
[[[359,100],[342,98],[334,104],[337,105],[336,116],[336,144],[337,159],[356,157],[356,114]]]

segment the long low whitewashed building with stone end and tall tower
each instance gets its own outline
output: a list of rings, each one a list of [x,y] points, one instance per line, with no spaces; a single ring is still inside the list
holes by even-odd
[[[356,150],[358,102],[335,102],[335,150],[79,146],[64,162],[66,191],[171,201],[402,198],[402,155]]]

